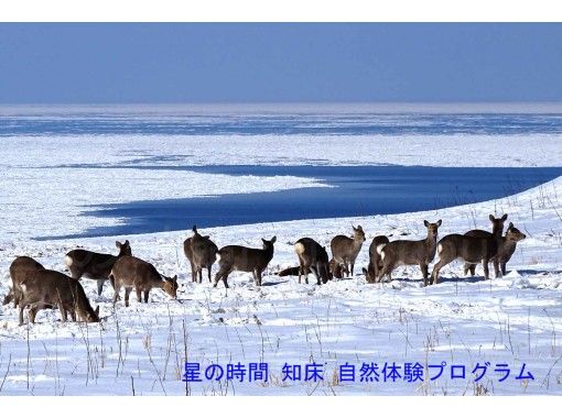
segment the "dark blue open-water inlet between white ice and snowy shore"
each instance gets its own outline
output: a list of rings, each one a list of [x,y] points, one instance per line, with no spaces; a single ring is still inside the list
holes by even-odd
[[[562,167],[190,166],[175,168],[234,176],[296,175],[321,178],[325,184],[334,187],[238,195],[236,180],[234,180],[233,194],[220,197],[108,205],[100,209],[88,210],[86,213],[125,218],[126,224],[96,228],[86,231],[82,237],[185,230],[192,224],[205,228],[431,210],[512,195],[562,175]]]

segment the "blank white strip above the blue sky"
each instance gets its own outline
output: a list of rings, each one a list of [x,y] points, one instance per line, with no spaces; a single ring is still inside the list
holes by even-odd
[[[552,0],[17,0],[4,22],[552,22]]]

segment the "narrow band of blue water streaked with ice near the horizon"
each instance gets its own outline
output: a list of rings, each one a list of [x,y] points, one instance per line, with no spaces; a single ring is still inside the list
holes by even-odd
[[[443,135],[562,133],[562,113],[270,113],[195,110],[107,112],[0,109],[0,136],[136,135]]]

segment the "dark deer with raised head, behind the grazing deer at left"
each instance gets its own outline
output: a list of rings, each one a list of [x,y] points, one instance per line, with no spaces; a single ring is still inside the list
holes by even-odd
[[[97,280],[98,296],[101,295],[104,283],[108,279],[117,260],[125,255],[132,255],[129,240],[122,244],[116,241],[116,246],[119,249],[119,254],[117,255],[96,253],[83,249],[69,251],[64,261],[71,271],[71,276],[75,279],[86,277]]]

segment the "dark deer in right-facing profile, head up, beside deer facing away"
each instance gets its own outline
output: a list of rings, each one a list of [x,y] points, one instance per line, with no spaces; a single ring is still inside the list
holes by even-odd
[[[223,246],[217,253],[218,272],[215,275],[215,284],[217,287],[218,282],[221,279],[225,287],[228,288],[228,275],[234,272],[252,273],[253,283],[261,286],[261,275],[268,266],[271,258],[273,258],[273,244],[277,237],[271,240],[261,239],[263,249],[249,249],[241,245],[227,245]]]

